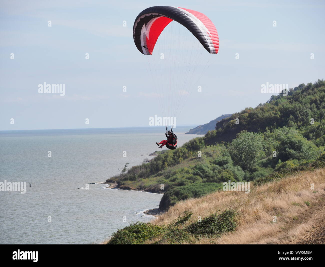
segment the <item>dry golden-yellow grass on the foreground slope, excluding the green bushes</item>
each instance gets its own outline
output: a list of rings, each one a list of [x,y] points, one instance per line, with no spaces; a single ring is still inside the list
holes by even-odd
[[[310,184],[314,184],[314,190],[310,189]],[[170,224],[189,210],[193,212],[186,224],[189,225],[197,221],[199,216],[204,218],[216,211],[232,208],[238,211],[236,231],[217,238],[202,238],[196,244],[290,243],[311,229],[314,218],[301,221],[301,216],[318,205],[319,201],[322,202],[324,188],[325,169],[304,171],[261,186],[251,184],[249,194],[242,191],[218,191],[201,198],[181,201],[151,223]],[[311,206],[308,207],[305,201],[309,201]],[[273,216],[277,217],[277,222],[273,222]]]

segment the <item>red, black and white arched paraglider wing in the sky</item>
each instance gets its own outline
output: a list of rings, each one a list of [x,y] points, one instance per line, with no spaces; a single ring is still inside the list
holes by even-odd
[[[137,49],[151,55],[159,35],[173,20],[186,27],[209,53],[218,53],[218,32],[207,16],[191,9],[168,6],[146,8],[136,17],[133,39]]]

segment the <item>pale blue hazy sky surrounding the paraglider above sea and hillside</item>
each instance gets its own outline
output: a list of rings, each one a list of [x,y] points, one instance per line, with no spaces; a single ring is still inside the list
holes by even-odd
[[[266,82],[325,78],[324,1],[1,1],[0,130],[148,126],[159,110],[132,28],[157,5],[204,13],[220,38],[178,125],[264,103]],[[43,82],[65,84],[65,96],[39,94]]]

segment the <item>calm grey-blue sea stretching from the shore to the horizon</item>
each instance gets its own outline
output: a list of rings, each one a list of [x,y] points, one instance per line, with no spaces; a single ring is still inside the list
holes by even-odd
[[[175,129],[179,145],[199,135]],[[0,182],[26,182],[26,193],[0,191],[1,244],[91,244],[153,217],[160,194],[105,189],[104,182],[158,150],[163,127],[0,131]],[[139,141],[142,143],[140,146]],[[52,156],[48,157],[48,151]],[[123,152],[126,151],[126,157]],[[31,187],[29,187],[31,183]],[[51,222],[48,222],[51,216]]]

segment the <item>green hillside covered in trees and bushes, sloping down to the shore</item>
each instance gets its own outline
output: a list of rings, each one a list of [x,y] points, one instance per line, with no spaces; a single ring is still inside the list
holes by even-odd
[[[263,183],[280,173],[317,168],[311,165],[324,159],[324,100],[323,80],[300,84],[288,96],[235,113],[204,137],[107,181],[164,192],[160,208],[168,210],[177,201],[220,190],[224,181]]]

